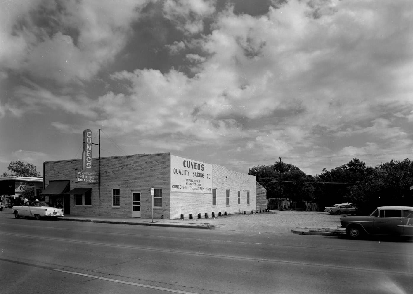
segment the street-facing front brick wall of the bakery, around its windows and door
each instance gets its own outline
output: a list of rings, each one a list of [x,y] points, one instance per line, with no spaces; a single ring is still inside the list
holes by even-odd
[[[91,216],[125,216],[132,213],[132,191],[140,192],[142,218],[152,217],[151,187],[162,189],[162,208],[154,208],[154,218],[169,218],[170,153],[103,157],[100,159],[100,193],[97,184],[75,183],[75,170],[82,160],[45,162],[45,185],[50,180],[70,180],[70,189],[92,188],[92,206],[75,206],[70,195],[70,213]],[[98,160],[93,159],[97,171]],[[112,206],[112,189],[120,189],[120,206]]]

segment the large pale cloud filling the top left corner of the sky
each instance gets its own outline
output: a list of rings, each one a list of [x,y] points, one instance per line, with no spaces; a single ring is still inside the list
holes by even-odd
[[[65,84],[113,61],[147,1],[3,2],[0,65]]]

